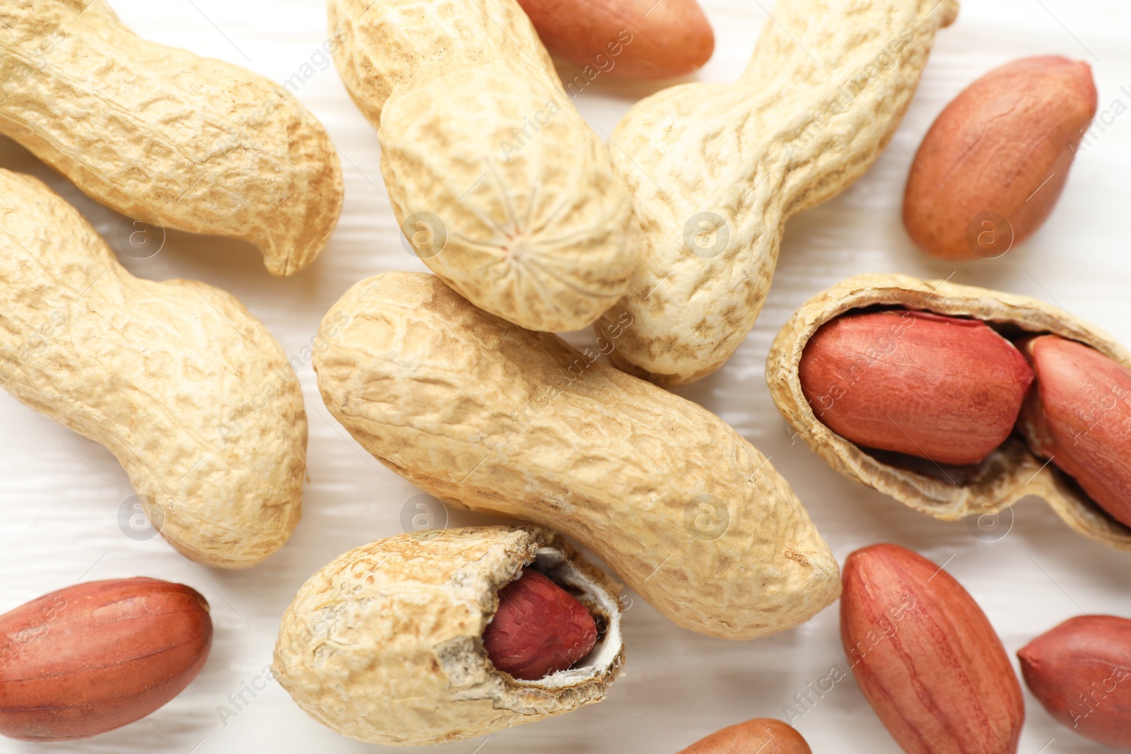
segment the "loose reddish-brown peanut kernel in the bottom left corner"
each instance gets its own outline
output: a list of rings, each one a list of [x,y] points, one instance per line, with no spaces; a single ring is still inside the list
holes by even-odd
[[[208,603],[157,579],[112,579],[0,615],[0,734],[68,740],[155,711],[197,676],[211,647]]]

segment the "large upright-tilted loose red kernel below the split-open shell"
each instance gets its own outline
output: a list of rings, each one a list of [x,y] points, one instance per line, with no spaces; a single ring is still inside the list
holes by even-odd
[[[1021,686],[982,608],[896,545],[848,556],[840,636],[864,697],[907,754],[1013,754]]]

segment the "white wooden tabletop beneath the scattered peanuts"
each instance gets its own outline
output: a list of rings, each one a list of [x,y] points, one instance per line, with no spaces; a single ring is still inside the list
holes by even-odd
[[[226,288],[296,355],[349,285],[382,270],[424,269],[399,242],[383,194],[375,133],[319,52],[326,36],[320,0],[114,0],[113,6],[152,40],[240,63],[276,81],[302,71],[297,96],[345,156],[342,220],[321,258],[303,274],[271,278],[248,245],[175,232],[153,258],[122,255],[133,274],[184,276]],[[746,62],[769,0],[708,0],[706,8],[717,49],[699,78],[729,80]],[[939,111],[973,79],[1015,58],[1042,53],[1091,63],[1103,132],[1091,135],[1052,218],[1024,246],[988,262],[956,267],[929,260],[899,220],[910,155]],[[608,131],[636,98],[655,88],[602,76],[576,102],[592,123]],[[841,561],[877,541],[912,547],[939,563],[949,558],[948,570],[982,604],[1011,653],[1072,615],[1131,616],[1131,556],[1072,534],[1035,499],[1017,506],[1008,535],[986,541],[964,522],[929,519],[845,480],[804,443],[791,440],[766,389],[763,362],[774,333],[803,301],[867,271],[952,275],[957,283],[1038,296],[1131,344],[1131,114],[1115,115],[1125,109],[1113,110],[1116,101],[1131,105],[1126,0],[966,0],[957,24],[938,37],[896,144],[843,196],[791,220],[758,326],[720,372],[680,390],[772,457]],[[3,139],[0,166],[48,180],[112,242],[127,223]],[[582,343],[590,336],[570,337]],[[149,575],[200,590],[211,603],[216,626],[204,671],[155,714],[83,743],[0,739],[0,754],[394,751],[318,725],[266,674],[279,616],[299,586],[338,554],[400,532],[405,506],[412,509],[421,494],[348,439],[322,406],[309,364],[299,376],[310,419],[304,517],[283,551],[243,572],[190,565],[159,537],[126,536],[120,521],[123,511],[126,519],[132,512],[133,493],[113,457],[0,392],[0,610],[79,580]],[[485,520],[452,512],[449,525]],[[668,754],[751,717],[786,717],[789,707],[814,752],[898,754],[852,678],[823,695],[809,691],[843,661],[837,621],[834,606],[795,631],[727,642],[677,629],[637,598],[625,614],[628,671],[606,702],[442,751]],[[798,705],[798,694],[811,701]],[[1022,754],[1110,751],[1053,722],[1028,692],[1026,703]]]

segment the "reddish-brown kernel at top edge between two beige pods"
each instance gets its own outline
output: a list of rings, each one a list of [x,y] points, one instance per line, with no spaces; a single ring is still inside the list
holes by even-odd
[[[518,0],[550,52],[628,78],[690,73],[710,60],[715,33],[696,0]],[[584,83],[584,84],[582,84]],[[588,80],[566,81],[585,88]]]

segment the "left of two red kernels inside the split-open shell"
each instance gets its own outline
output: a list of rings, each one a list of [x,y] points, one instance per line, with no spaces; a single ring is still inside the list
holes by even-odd
[[[1013,431],[1033,370],[985,322],[895,310],[821,327],[800,376],[817,418],[852,442],[965,465]]]

